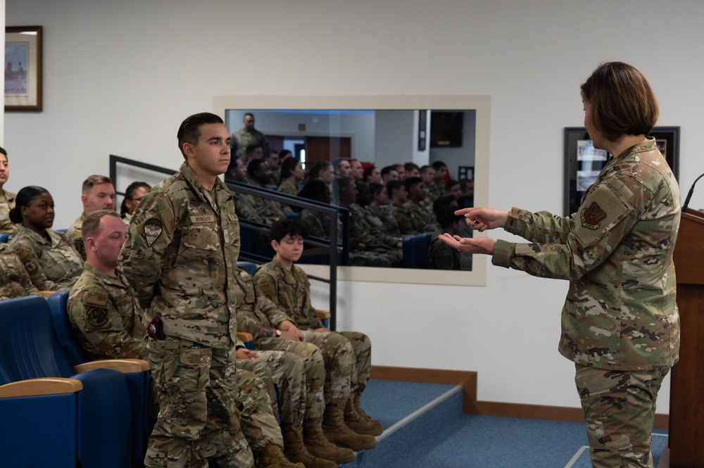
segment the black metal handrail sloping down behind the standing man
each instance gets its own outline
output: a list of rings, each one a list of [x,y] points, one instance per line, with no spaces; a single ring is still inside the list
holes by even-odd
[[[148,163],[142,163],[141,161],[137,161],[134,159],[130,158],[123,158],[122,156],[115,156],[113,154],[110,155],[110,178],[115,184],[115,193],[123,195],[124,193],[120,192],[118,190],[118,186],[116,184],[117,181],[117,175],[118,175],[118,164],[125,164],[125,165],[130,165],[134,167],[140,167],[142,169],[146,170],[151,170],[153,172],[160,172],[161,174],[165,175],[174,175],[177,171],[167,169],[166,167],[161,167],[153,164],[148,164]],[[330,311],[330,329],[334,330],[336,329],[337,325],[337,250],[338,246],[341,247],[341,253],[342,253],[342,258],[341,258],[341,263],[342,265],[347,265],[348,264],[348,244],[349,244],[349,210],[347,208],[343,208],[341,206],[336,206],[336,205],[329,205],[327,203],[322,203],[320,201],[313,201],[313,200],[308,200],[307,198],[301,198],[298,196],[294,195],[289,195],[289,194],[284,194],[282,192],[277,192],[277,191],[272,191],[269,189],[263,189],[258,186],[252,186],[249,184],[242,184],[241,182],[232,182],[230,180],[225,181],[225,184],[227,187],[235,192],[241,193],[241,194],[249,194],[253,196],[258,196],[261,198],[265,198],[268,200],[276,201],[277,203],[285,203],[287,205],[294,205],[298,208],[306,208],[308,210],[313,210],[318,213],[323,213],[325,215],[329,215],[331,220],[333,222],[330,222],[330,240],[326,241],[325,239],[319,239],[319,238],[310,238],[306,239],[306,242],[308,244],[313,244],[316,246],[326,246],[329,247],[329,257],[330,257],[330,273],[329,273],[329,279],[325,278],[320,278],[320,277],[315,277],[310,275],[309,277],[311,279],[315,279],[321,282],[327,282],[329,284],[329,296],[330,296],[330,304],[329,304],[329,311]],[[337,243],[338,239],[338,229],[337,229],[337,222],[334,222],[334,220],[337,220],[337,217],[341,217],[342,220],[342,239],[341,239],[341,244]],[[268,229],[268,226],[266,224],[261,224],[259,222],[251,221],[251,220],[246,220],[246,219],[240,219],[239,220],[240,224],[244,224],[246,226],[252,227],[253,229],[257,230],[265,230]],[[260,259],[258,260],[263,260],[263,261],[268,261],[268,259]]]

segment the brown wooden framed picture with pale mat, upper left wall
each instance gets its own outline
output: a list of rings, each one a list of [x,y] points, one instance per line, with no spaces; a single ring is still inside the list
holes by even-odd
[[[5,110],[42,111],[42,27],[5,28]]]

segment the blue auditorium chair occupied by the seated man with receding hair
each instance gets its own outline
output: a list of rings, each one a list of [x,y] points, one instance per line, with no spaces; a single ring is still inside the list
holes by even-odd
[[[68,358],[70,365],[80,369],[92,369],[101,366],[104,361],[90,362],[78,343],[75,331],[68,318],[68,289],[51,294],[46,302],[51,311],[51,321],[54,324],[54,331],[61,345],[64,355]],[[146,441],[149,439],[153,421],[149,419],[149,363],[144,360],[114,360],[125,362],[129,369],[133,363],[138,363],[140,369],[136,372],[125,372],[127,388],[130,391],[130,402],[132,408],[132,461],[137,462],[144,459],[146,453]]]

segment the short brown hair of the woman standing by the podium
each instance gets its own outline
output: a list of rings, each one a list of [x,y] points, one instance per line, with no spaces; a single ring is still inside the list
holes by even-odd
[[[658,121],[658,99],[646,77],[632,65],[602,63],[580,89],[582,99],[591,104],[592,125],[608,141],[624,134],[648,135]]]

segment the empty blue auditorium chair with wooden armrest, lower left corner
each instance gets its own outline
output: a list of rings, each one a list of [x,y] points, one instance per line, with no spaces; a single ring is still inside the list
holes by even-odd
[[[41,296],[0,301],[0,419],[0,467],[132,465],[125,377],[76,374]]]

